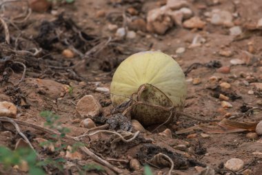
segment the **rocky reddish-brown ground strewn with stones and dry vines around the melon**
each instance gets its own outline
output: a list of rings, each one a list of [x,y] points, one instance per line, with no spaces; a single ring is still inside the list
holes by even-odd
[[[2,2],[0,145],[30,147],[24,134],[42,160],[63,158],[61,169],[42,166],[48,174],[143,174],[144,165],[168,174],[172,163],[170,174],[261,174],[261,9],[260,0]],[[188,117],[157,131],[110,101],[117,66],[145,50],[171,55],[188,83]]]

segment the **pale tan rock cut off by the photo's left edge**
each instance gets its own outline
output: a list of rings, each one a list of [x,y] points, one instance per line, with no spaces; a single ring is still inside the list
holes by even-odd
[[[17,107],[12,102],[0,102],[0,117],[17,118]]]

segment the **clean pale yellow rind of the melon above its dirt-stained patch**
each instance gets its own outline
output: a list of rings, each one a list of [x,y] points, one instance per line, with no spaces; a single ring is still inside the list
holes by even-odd
[[[181,67],[172,57],[151,51],[131,55],[119,65],[110,86],[112,103],[117,106],[127,101],[125,97],[146,83],[163,91],[174,107],[183,106],[187,87]]]

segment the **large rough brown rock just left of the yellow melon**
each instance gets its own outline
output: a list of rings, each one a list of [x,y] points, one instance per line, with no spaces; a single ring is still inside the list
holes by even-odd
[[[77,113],[81,118],[95,117],[101,113],[101,104],[92,95],[85,95],[77,102]]]

